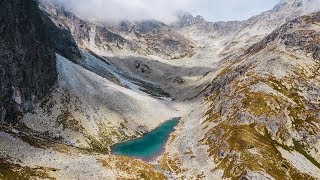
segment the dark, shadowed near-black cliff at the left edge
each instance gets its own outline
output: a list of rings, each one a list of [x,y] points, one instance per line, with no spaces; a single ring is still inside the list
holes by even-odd
[[[1,1],[0,32],[0,120],[13,121],[55,84],[55,52],[70,59],[80,53],[34,0]]]

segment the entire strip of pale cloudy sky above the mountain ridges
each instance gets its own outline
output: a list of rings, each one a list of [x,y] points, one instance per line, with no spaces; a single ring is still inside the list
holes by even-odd
[[[100,20],[174,20],[178,10],[210,21],[243,20],[269,10],[279,0],[54,0],[74,13]]]

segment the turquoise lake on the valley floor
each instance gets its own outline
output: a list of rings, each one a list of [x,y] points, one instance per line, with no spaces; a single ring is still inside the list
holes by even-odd
[[[173,132],[179,120],[180,118],[170,119],[141,138],[115,144],[111,147],[112,153],[145,160],[151,159],[164,149],[170,133]]]

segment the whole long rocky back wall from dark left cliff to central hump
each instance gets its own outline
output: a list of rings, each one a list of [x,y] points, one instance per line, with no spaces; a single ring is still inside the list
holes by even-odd
[[[194,44],[162,22],[90,22],[51,1],[40,2],[56,24],[71,30],[83,49],[103,51],[107,55],[155,55],[164,59],[181,59],[194,54]]]

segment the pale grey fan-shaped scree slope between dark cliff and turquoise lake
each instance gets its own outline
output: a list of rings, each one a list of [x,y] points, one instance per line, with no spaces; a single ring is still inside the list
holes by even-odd
[[[170,101],[150,97],[138,83],[114,73],[107,61],[85,52],[84,57],[82,66],[111,74],[117,84],[58,56],[58,86],[22,119],[28,128],[106,153],[110,145],[179,116]]]

